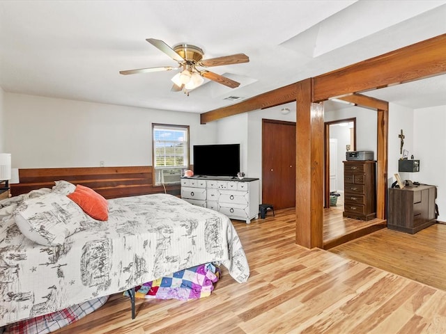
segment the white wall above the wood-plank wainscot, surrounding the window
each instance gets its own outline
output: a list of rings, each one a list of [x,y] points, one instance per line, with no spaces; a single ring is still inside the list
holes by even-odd
[[[216,141],[197,113],[4,94],[5,143],[15,168],[151,166],[152,122],[189,125],[190,144]],[[191,154],[192,161],[192,154]]]

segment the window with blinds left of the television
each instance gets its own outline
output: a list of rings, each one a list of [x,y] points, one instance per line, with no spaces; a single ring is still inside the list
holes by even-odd
[[[152,125],[153,184],[180,183],[189,168],[189,127]]]

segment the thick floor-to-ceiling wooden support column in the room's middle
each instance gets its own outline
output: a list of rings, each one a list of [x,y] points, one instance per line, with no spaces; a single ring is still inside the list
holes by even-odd
[[[296,244],[323,247],[323,104],[312,104],[312,79],[296,92]]]

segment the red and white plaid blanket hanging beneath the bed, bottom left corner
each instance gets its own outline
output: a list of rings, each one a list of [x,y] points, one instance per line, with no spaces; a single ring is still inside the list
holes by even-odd
[[[97,310],[109,299],[109,296],[85,301],[63,310],[41,315],[40,317],[18,321],[0,328],[3,334],[45,334],[51,333],[59,328],[67,326],[72,322],[79,320],[89,313]],[[2,332],[3,331],[3,332]]]

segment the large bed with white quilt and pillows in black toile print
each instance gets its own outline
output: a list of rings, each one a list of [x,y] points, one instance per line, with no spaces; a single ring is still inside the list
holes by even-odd
[[[249,277],[226,216],[162,193],[107,200],[107,219],[92,218],[67,197],[71,187],[79,185],[56,182],[0,201],[0,327],[207,262],[239,283]],[[33,218],[62,221],[65,235],[37,229]]]

